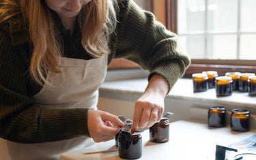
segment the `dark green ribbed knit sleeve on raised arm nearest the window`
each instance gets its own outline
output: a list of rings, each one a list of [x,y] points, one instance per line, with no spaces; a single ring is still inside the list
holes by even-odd
[[[149,79],[153,74],[163,76],[169,91],[190,65],[177,35],[132,0],[119,3],[115,58],[121,57],[150,71]]]

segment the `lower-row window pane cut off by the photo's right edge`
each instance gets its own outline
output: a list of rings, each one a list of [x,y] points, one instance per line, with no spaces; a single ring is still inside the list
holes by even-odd
[[[240,59],[256,59],[256,35],[241,35]]]

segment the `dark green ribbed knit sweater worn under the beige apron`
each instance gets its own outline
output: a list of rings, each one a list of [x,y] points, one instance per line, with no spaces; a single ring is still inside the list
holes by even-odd
[[[81,46],[81,31],[74,34],[52,14],[64,43],[65,57],[91,59]],[[12,19],[13,20],[13,19]],[[177,35],[167,31],[150,12],[141,10],[132,0],[122,0],[117,13],[117,28],[109,43],[109,63],[125,58],[138,63],[152,74],[169,82],[169,90],[180,78],[190,60]],[[46,109],[31,99],[41,87],[29,77],[31,51],[27,29],[20,24],[0,24],[0,137],[22,143],[52,142],[77,136],[89,136],[87,109]],[[74,54],[76,53],[76,54]]]

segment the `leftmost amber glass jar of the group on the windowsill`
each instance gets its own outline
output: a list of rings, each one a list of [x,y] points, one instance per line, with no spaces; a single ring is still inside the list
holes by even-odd
[[[208,76],[207,74],[193,74],[193,91],[202,92],[208,90]]]

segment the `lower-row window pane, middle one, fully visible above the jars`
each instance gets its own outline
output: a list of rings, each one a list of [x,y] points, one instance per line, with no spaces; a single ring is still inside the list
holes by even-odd
[[[236,35],[208,37],[208,59],[236,59]]]

